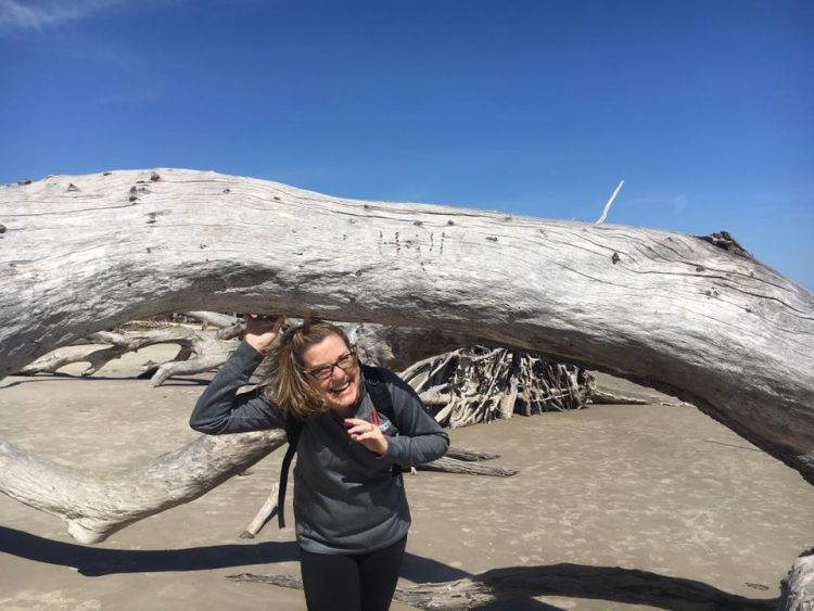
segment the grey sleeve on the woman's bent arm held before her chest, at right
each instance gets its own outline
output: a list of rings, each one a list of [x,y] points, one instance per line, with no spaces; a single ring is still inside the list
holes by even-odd
[[[404,468],[431,462],[449,448],[449,436],[427,411],[416,391],[398,375],[383,370],[393,398],[393,418],[398,435],[387,437],[382,459]]]

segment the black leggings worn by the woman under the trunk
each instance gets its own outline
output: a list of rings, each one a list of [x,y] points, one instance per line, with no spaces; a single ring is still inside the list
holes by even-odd
[[[386,611],[396,589],[407,536],[371,551],[342,556],[300,550],[308,611]]]

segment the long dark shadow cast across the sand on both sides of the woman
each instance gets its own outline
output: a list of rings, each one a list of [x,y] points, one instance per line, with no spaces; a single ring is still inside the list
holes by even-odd
[[[295,542],[162,550],[101,549],[56,542],[7,526],[0,526],[0,552],[35,562],[72,567],[89,577],[120,573],[206,571],[294,562],[300,559],[300,548]],[[694,611],[768,610],[776,609],[778,600],[747,598],[695,580],[620,567],[562,563],[494,569],[472,575],[409,552],[405,556],[402,576],[416,584],[438,584],[442,587],[444,582],[457,580],[484,584],[496,596],[494,602],[478,607],[481,611],[500,611],[507,608],[557,611],[557,607],[534,600],[531,596],[592,598]]]

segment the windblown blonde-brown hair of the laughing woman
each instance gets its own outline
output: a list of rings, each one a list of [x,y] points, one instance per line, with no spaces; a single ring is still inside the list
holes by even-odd
[[[297,420],[308,420],[328,411],[319,389],[306,378],[303,353],[331,334],[339,335],[348,349],[351,341],[345,332],[330,322],[305,322],[287,331],[271,355],[269,383],[265,386],[266,398],[291,412]]]

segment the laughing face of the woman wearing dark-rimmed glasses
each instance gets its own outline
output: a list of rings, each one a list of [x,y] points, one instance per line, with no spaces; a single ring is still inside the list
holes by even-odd
[[[303,352],[303,364],[308,382],[319,390],[328,408],[341,417],[348,416],[349,409],[356,405],[361,384],[359,366],[355,358],[352,359],[353,365],[347,368],[347,371],[335,365],[349,352],[351,348],[344,340],[335,333],[331,333]],[[318,379],[309,373],[319,373],[319,369],[326,367],[330,369],[330,374],[325,379]]]

